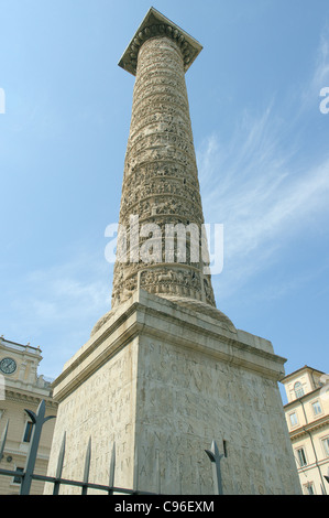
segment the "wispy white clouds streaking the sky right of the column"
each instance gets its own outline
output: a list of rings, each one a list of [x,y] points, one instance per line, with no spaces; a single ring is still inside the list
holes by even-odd
[[[300,93],[304,101],[306,91],[329,79],[327,35]],[[296,115],[271,100],[263,114],[242,114],[229,141],[212,133],[197,150],[205,218],[224,225],[224,269],[215,280],[221,296],[278,261],[292,237],[317,229],[328,216],[329,151],[312,152],[300,129],[307,120],[305,102]]]

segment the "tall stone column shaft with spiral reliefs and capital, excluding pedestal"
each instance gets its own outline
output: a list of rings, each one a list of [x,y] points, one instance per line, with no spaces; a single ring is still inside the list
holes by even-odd
[[[120,63],[136,78],[119,219],[127,247],[117,255],[112,306],[138,288],[215,306],[185,84],[201,47],[154,14],[145,24]]]

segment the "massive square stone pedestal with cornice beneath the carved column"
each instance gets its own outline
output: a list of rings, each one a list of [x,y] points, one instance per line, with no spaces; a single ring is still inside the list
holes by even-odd
[[[157,456],[162,493],[211,495],[205,449],[216,440],[227,454],[224,494],[299,494],[277,387],[284,363],[218,310],[140,290],[97,324],[54,382],[48,475],[66,432],[65,478],[81,479],[91,436],[90,482],[108,484],[116,442],[116,486],[156,492]]]

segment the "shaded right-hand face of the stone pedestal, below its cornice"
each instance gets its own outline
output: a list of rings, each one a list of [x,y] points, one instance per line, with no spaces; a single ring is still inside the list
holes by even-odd
[[[154,479],[150,458],[156,453],[164,490],[179,487],[178,481],[173,484],[179,462],[185,490],[211,494],[205,450],[215,439],[221,449],[226,444],[227,494],[274,494],[281,485],[277,474],[285,477],[292,467],[276,382],[163,342],[143,341],[140,348],[141,484]]]

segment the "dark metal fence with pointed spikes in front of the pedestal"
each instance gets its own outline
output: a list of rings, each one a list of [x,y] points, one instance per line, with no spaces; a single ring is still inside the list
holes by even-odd
[[[109,483],[108,485],[102,484],[95,484],[89,482],[89,468],[90,468],[90,458],[91,458],[91,438],[89,439],[86,454],[85,454],[85,468],[84,475],[81,481],[72,481],[62,477],[64,458],[65,458],[65,441],[66,435],[64,433],[62,446],[58,454],[57,460],[57,468],[56,475],[54,477],[47,475],[37,475],[34,473],[36,455],[39,450],[39,443],[41,438],[41,432],[44,423],[50,419],[54,419],[55,416],[45,417],[45,401],[42,400],[36,413],[32,412],[32,410],[26,410],[25,412],[29,414],[30,419],[33,422],[33,433],[30,442],[30,450],[28,453],[25,467],[23,471],[20,470],[2,470],[0,468],[0,475],[3,476],[11,476],[19,479],[21,483],[20,487],[20,495],[30,495],[31,492],[31,484],[32,481],[43,481],[46,483],[53,484],[53,495],[59,494],[59,487],[62,485],[69,485],[69,486],[77,486],[80,488],[81,495],[87,495],[88,489],[97,489],[100,492],[105,492],[107,495],[113,494],[122,494],[122,495],[161,495],[161,476],[160,476],[160,465],[158,465],[158,456],[155,457],[155,473],[156,473],[156,493],[147,493],[140,490],[138,488],[138,464],[136,461],[134,462],[134,476],[133,476],[133,485],[131,489],[117,487],[114,484],[114,472],[116,472],[116,444],[113,443],[111,458],[110,458],[110,467],[109,467]],[[6,428],[3,430],[3,434],[0,441],[0,460],[2,458],[2,454],[6,446],[6,440],[8,434],[9,421],[7,421]],[[221,483],[221,472],[220,472],[220,461],[224,456],[223,454],[219,453],[217,444],[212,441],[210,450],[205,450],[207,453],[211,464],[212,464],[212,475],[213,475],[213,494],[215,495],[222,495],[222,483]],[[135,458],[138,455],[135,455]]]

